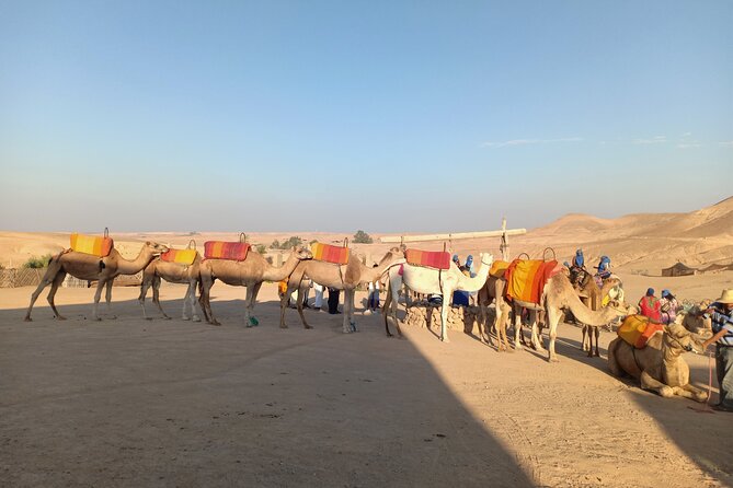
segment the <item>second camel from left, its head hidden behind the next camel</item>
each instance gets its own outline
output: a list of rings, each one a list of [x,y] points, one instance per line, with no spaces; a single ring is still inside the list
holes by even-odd
[[[186,294],[183,298],[183,318],[184,321],[193,319],[201,322],[201,317],[196,313],[196,286],[201,276],[201,254],[196,253],[196,258],[191,265],[182,265],[179,263],[169,263],[162,260],[160,257],[150,262],[150,264],[142,271],[142,283],[140,284],[140,297],[138,302],[142,306],[142,316],[148,317],[145,310],[145,297],[148,294],[148,288],[152,286],[152,302],[158,305],[163,318],[171,318],[165,315],[163,307],[160,305],[160,282],[161,278],[169,283],[188,284]],[[186,304],[191,305],[191,316],[186,314]]]

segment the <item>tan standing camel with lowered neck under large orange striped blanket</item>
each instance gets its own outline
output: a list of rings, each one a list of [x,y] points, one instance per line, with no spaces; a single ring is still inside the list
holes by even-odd
[[[515,319],[515,349],[522,349],[522,345],[519,344],[519,333],[522,330],[520,309],[523,306],[529,311],[532,346],[540,351],[545,349],[537,336],[537,311],[545,311],[548,326],[550,328],[550,347],[548,349],[548,359],[550,362],[559,361],[558,356],[554,352],[554,341],[558,336],[558,324],[562,316],[562,309],[569,309],[575,318],[592,326],[606,325],[616,317],[628,315],[633,310],[633,307],[629,309],[625,305],[616,304],[609,304],[598,312],[588,309],[581,302],[568,275],[564,272],[559,272],[548,280],[547,284],[545,284],[545,290],[542,291],[539,304],[513,300],[513,306]]]

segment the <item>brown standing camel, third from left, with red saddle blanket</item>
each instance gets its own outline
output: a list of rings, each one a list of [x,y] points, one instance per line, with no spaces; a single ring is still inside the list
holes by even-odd
[[[233,287],[247,287],[247,299],[244,302],[244,323],[248,327],[257,325],[259,321],[252,315],[252,310],[257,300],[257,293],[264,281],[282,281],[293,274],[296,266],[305,259],[310,259],[313,254],[302,246],[295,246],[283,266],[272,266],[260,254],[250,249],[247,258],[241,262],[231,259],[204,259],[199,266],[201,295],[198,303],[206,322],[211,325],[221,325],[214,318],[210,304],[210,290],[214,282],[219,279]]]

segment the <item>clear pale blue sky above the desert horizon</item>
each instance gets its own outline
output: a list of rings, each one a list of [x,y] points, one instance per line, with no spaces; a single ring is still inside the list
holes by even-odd
[[[0,0],[0,229],[458,232],[733,195],[733,2]]]

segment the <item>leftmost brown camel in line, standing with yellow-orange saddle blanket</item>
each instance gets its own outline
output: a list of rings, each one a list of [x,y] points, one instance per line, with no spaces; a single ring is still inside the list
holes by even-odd
[[[168,247],[154,242],[146,242],[140,248],[140,253],[134,260],[127,260],[119,252],[113,248],[108,256],[99,257],[92,254],[78,253],[76,251],[65,251],[54,256],[48,263],[48,269],[44,275],[38,288],[31,295],[31,305],[25,314],[25,322],[31,322],[31,311],[33,304],[38,299],[38,295],[47,286],[50,287],[48,292],[48,303],[54,311],[54,317],[64,321],[56,305],[54,304],[54,297],[56,290],[64,282],[66,275],[71,275],[75,278],[89,281],[98,281],[96,292],[94,293],[94,307],[92,316],[95,321],[101,321],[98,314],[100,298],[102,297],[102,289],[106,287],[106,302],[107,310],[111,309],[112,303],[112,283],[119,275],[136,275],[140,272],[148,264],[162,253],[167,252]]]

